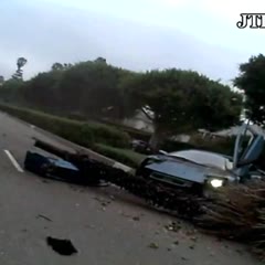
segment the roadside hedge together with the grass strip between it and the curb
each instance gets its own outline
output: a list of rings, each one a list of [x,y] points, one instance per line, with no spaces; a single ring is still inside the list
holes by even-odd
[[[0,105],[0,109],[129,167],[136,168],[145,158],[129,149],[129,135],[115,127],[95,121],[84,123],[62,118],[10,105]]]

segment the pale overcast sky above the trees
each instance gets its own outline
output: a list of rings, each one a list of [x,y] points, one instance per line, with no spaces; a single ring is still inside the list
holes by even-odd
[[[0,75],[28,59],[26,78],[54,62],[98,56],[145,71],[190,68],[227,83],[239,64],[265,53],[265,30],[240,30],[264,0],[0,0]]]

